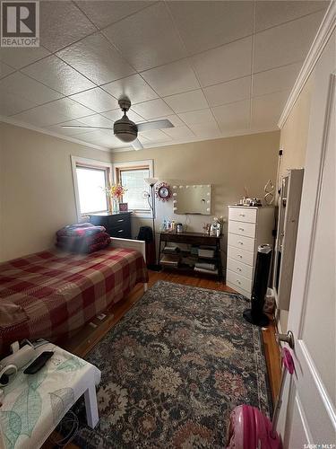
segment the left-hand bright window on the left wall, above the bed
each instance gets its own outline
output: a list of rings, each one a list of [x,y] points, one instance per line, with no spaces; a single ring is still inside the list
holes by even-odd
[[[90,159],[72,158],[77,215],[108,211],[105,188],[110,185],[111,165]]]

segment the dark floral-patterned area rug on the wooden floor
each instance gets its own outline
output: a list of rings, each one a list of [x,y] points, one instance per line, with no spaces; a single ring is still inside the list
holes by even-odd
[[[86,357],[99,367],[99,425],[85,448],[224,447],[241,403],[271,411],[261,331],[241,295],[159,281]]]

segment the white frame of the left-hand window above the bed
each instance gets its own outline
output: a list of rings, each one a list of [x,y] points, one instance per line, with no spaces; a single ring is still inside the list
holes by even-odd
[[[78,189],[78,179],[77,179],[77,167],[89,168],[89,169],[97,169],[97,170],[105,170],[106,172],[106,184],[110,186],[113,182],[113,166],[112,163],[106,163],[103,161],[97,161],[95,159],[88,159],[85,157],[71,156],[71,164],[73,171],[73,190],[74,190],[74,202],[76,207],[76,215],[77,219],[80,221],[84,216],[90,216],[93,214],[99,214],[99,212],[81,212],[81,203],[80,203],[80,194]],[[107,205],[108,208],[110,205],[110,199],[107,196]],[[101,213],[108,212],[108,208],[104,211],[100,211]]]

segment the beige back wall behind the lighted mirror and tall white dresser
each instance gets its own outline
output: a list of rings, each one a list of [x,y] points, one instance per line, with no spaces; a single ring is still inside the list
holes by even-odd
[[[163,219],[170,218],[184,225],[187,223],[188,231],[202,232],[204,223],[211,223],[213,216],[228,217],[228,205],[243,197],[244,186],[249,196],[263,198],[267,180],[275,182],[279,139],[279,131],[273,131],[116,153],[112,157],[116,163],[152,159],[154,176],[171,186],[211,184],[211,216],[176,215],[172,199],[166,203],[156,202],[157,231]],[[133,236],[137,235],[140,225],[151,225],[151,219],[133,218]],[[226,239],[227,226],[224,227],[223,248]]]

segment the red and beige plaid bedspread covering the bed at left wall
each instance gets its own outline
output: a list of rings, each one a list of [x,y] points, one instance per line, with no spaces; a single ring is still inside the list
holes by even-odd
[[[0,354],[15,340],[69,335],[147,280],[140,252],[111,247],[91,254],[43,251],[1,263]]]

